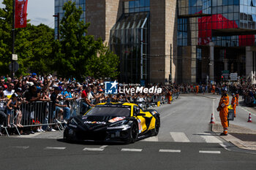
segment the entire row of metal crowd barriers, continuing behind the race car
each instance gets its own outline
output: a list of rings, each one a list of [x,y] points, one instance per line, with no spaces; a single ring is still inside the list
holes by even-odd
[[[178,93],[173,93],[173,99],[178,98]],[[132,102],[132,101],[131,101]],[[147,96],[146,101],[135,101],[137,104],[142,104],[143,109],[149,109],[151,107],[157,107],[159,104],[166,104],[167,98],[165,96]],[[6,102],[0,102],[0,108],[5,107],[4,113],[7,115]],[[79,100],[72,101],[59,101],[59,104],[67,104],[68,108],[59,108],[54,109],[52,101],[34,101],[29,103],[23,103],[20,105],[18,109],[12,109],[10,113],[10,126],[7,126],[8,123],[8,115],[6,123],[4,123],[4,129],[7,133],[7,136],[10,136],[8,130],[10,128],[15,128],[15,130],[20,135],[20,127],[18,127],[18,120],[20,119],[20,125],[23,128],[26,127],[36,127],[39,128],[41,126],[48,125],[56,125],[56,127],[61,131],[61,128],[64,128],[62,124],[64,124],[64,118],[75,116],[75,115],[83,115],[86,113],[90,107],[84,102],[83,98]],[[69,112],[69,111],[70,112]],[[62,112],[63,111],[63,112]],[[62,112],[58,117],[59,112]],[[69,114],[70,113],[70,114]],[[66,115],[65,115],[66,114]],[[59,121],[55,121],[55,118],[58,117]]]

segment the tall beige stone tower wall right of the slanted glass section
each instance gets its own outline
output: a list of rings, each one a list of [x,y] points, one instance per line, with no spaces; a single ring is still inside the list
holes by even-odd
[[[150,2],[150,79],[151,82],[165,82],[170,69],[176,80],[177,10],[175,0],[151,0]],[[170,68],[171,66],[171,68]]]

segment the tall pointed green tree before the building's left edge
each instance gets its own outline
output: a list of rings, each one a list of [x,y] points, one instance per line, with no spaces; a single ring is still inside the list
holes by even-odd
[[[54,65],[61,77],[76,77],[78,80],[86,73],[87,56],[95,55],[99,41],[94,36],[85,35],[89,23],[80,20],[82,9],[75,2],[67,1],[63,7],[65,13],[60,24],[61,41],[54,43]]]

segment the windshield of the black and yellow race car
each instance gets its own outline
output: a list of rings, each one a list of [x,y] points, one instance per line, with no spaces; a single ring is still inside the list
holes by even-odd
[[[129,117],[131,115],[131,107],[129,106],[105,106],[98,105],[92,108],[86,115],[88,116],[111,116],[111,117]]]

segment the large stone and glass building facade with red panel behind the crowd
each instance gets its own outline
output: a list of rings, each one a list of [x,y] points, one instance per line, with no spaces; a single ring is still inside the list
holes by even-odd
[[[256,0],[72,1],[120,57],[119,82],[255,81]]]

